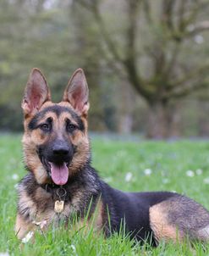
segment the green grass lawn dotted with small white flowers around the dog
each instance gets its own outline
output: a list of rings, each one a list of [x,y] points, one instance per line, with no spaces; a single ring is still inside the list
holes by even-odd
[[[92,230],[86,234],[82,229],[70,228],[50,229],[44,236],[37,233],[35,243],[22,246],[14,236],[15,185],[25,175],[20,141],[20,136],[0,136],[0,253],[30,256],[209,254],[209,245],[201,243],[195,243],[194,248],[187,243],[163,242],[158,248],[140,248],[122,235],[104,239]],[[111,186],[124,191],[176,191],[209,209],[209,142],[121,142],[96,138],[92,139],[91,147],[92,165]],[[151,175],[146,175],[147,169]]]

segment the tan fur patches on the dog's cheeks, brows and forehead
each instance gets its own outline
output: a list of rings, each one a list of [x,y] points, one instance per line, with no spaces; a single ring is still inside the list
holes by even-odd
[[[55,103],[47,102],[44,103],[40,110],[43,110],[47,107],[53,106]],[[69,103],[58,103],[58,105],[63,107],[72,108]],[[72,119],[71,114],[63,113],[59,117],[52,112],[47,112],[44,117],[40,120],[44,122],[47,118],[51,117],[53,120],[54,125],[54,134],[52,136],[60,137],[62,139],[62,131],[64,129],[65,120],[68,118],[72,121],[75,125],[75,121]],[[24,155],[25,155],[25,163],[30,168],[30,170],[34,171],[36,176],[36,180],[38,183],[43,184],[49,182],[47,171],[44,169],[41,161],[36,154],[36,147],[41,145],[42,143],[47,142],[50,138],[47,135],[43,135],[40,130],[29,131],[28,124],[30,123],[31,117],[25,119],[25,134],[22,139]],[[74,154],[74,159],[72,163],[69,165],[69,175],[74,174],[75,171],[79,170],[83,167],[83,163],[85,163],[86,159],[89,157],[89,140],[87,136],[87,120],[82,118],[84,125],[85,125],[85,132],[75,131],[72,136],[69,136],[69,140],[77,146],[77,153]]]

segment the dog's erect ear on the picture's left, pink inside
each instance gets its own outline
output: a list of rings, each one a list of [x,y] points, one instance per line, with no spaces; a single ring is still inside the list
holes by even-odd
[[[41,71],[33,69],[30,73],[25,95],[23,97],[22,109],[25,114],[36,114],[42,104],[51,100],[47,81]]]

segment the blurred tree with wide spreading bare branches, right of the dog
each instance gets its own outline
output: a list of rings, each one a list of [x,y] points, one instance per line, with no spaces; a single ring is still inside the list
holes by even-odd
[[[107,57],[146,99],[147,135],[178,135],[179,99],[208,86],[209,63],[200,45],[201,32],[209,30],[209,1],[77,2],[96,20]]]

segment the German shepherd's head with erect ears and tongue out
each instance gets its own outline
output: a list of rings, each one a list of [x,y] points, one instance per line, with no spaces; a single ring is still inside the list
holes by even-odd
[[[41,71],[31,71],[22,102],[23,149],[25,165],[38,183],[64,185],[89,161],[88,96],[81,69],[72,75],[60,103],[52,103]]]

